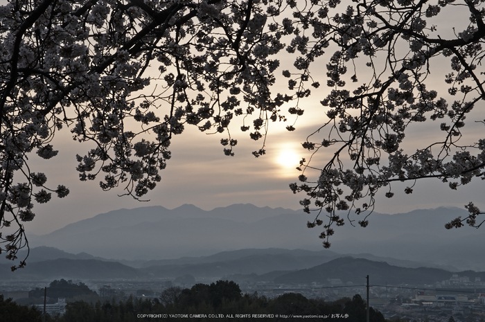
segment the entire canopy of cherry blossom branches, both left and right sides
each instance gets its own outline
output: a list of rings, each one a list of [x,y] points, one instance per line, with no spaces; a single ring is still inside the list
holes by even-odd
[[[434,25],[455,8],[466,12],[464,30]],[[484,138],[464,127],[485,98],[484,15],[482,0],[10,0],[0,6],[0,251],[15,259],[35,204],[69,194],[28,162],[58,154],[55,134],[89,143],[76,156],[80,180],[139,199],[161,181],[170,142],[187,126],[223,134],[232,156],[238,119],[263,141],[258,157],[268,125],[286,120],[283,105],[298,118],[321,84],[321,127],[302,145],[327,160],[301,160],[290,188],[317,212],[308,226],[324,225],[325,247],[342,214],[367,226],[394,181],[411,182],[412,193],[419,179],[457,189],[483,178]],[[278,71],[281,53],[294,64]],[[450,61],[444,93],[429,81],[436,60]],[[288,91],[272,93],[279,73]],[[419,123],[443,139],[409,150]],[[479,209],[466,208],[448,228],[482,224]]]

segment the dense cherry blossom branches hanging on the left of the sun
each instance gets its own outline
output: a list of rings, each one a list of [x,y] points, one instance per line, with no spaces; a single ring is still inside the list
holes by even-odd
[[[76,156],[82,181],[120,186],[139,199],[161,181],[170,140],[187,125],[225,133],[229,125],[263,138],[284,120],[291,98],[272,94],[275,55],[284,48],[272,23],[283,3],[267,0],[12,0],[0,7],[0,235],[10,259],[28,245],[22,222],[36,204],[65,197],[28,163],[58,154],[60,131],[89,142]],[[254,155],[264,154],[264,143]],[[25,262],[20,263],[20,267]],[[17,267],[13,267],[15,269]]]

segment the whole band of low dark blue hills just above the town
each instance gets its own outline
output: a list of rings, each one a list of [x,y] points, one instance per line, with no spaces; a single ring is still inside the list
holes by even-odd
[[[25,268],[15,272],[10,272],[10,265],[2,263],[0,264],[0,280],[51,281],[60,278],[66,280],[148,280],[150,278],[175,280],[180,276],[191,275],[196,280],[223,278],[235,280],[236,283],[265,281],[276,285],[301,285],[317,282],[322,285],[330,285],[330,279],[340,279],[343,285],[362,285],[365,276],[369,275],[374,285],[430,285],[448,280],[452,274],[468,276],[470,280],[474,280],[476,277],[485,280],[485,272],[460,271],[454,273],[438,268],[413,267],[419,263],[392,258],[368,260],[342,256],[333,252],[301,249],[242,249],[200,258],[143,262],[141,268],[129,267],[119,262],[99,258],[77,259],[77,255],[48,247],[39,247],[32,251],[37,253],[37,256],[42,256],[44,253],[46,256],[51,254],[52,257],[67,256],[69,258],[29,261]],[[81,254],[80,257],[86,258],[89,255]],[[390,265],[388,262],[400,262],[412,267]]]

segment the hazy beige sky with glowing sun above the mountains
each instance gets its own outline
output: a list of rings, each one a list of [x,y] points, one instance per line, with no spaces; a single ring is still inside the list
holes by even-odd
[[[455,19],[455,22],[448,21],[448,26],[456,26],[459,19],[463,21],[463,17]],[[324,58],[328,59],[328,56]],[[446,64],[449,66],[449,62]],[[281,75],[281,70],[277,70],[276,75]],[[325,69],[322,69],[321,78],[317,79],[322,84],[326,82],[325,72]],[[443,84],[443,91],[446,91],[443,78],[436,78],[436,84],[440,83]],[[299,158],[309,156],[308,151],[301,148],[301,142],[324,121],[325,109],[319,105],[319,100],[324,98],[326,90],[326,87],[321,87],[310,99],[301,102],[300,106],[306,109],[306,114],[299,118],[296,131],[287,132],[284,129],[289,123],[272,123],[266,142],[267,154],[258,159],[254,158],[251,152],[258,150],[261,142],[252,141],[247,133],[232,133],[233,138],[238,139],[239,143],[235,150],[236,156],[228,157],[222,153],[222,145],[219,143],[220,138],[226,136],[206,135],[195,127],[186,126],[183,134],[173,138],[173,157],[168,161],[166,170],[161,172],[162,181],[148,194],[150,202],[118,197],[118,194],[123,193],[121,189],[103,192],[98,186],[98,181],[79,181],[78,172],[75,170],[75,156],[84,155],[89,147],[72,141],[70,132],[64,130],[53,143],[55,149],[60,151],[58,156],[48,161],[33,158],[31,161],[35,166],[31,168],[35,172],[46,172],[47,184],[51,187],[64,184],[71,190],[71,194],[64,199],[53,197],[46,205],[36,205],[37,217],[33,222],[26,224],[28,233],[49,233],[98,213],[148,205],[176,208],[182,204],[194,204],[210,210],[229,204],[251,203],[256,206],[298,209],[299,199],[305,196],[294,195],[288,184],[297,181],[299,172],[294,168]],[[439,95],[442,96],[443,93]],[[283,111],[288,107],[289,105],[283,106]],[[238,118],[233,122],[238,127],[242,125],[242,120]],[[439,131],[436,132],[438,127],[439,121],[416,127],[407,138],[408,144],[434,139],[436,133],[440,134]],[[473,127],[473,131],[483,132],[483,126],[477,125]],[[470,201],[476,202],[477,205],[485,205],[482,202],[485,199],[483,185],[479,181],[458,191],[446,188],[437,180],[423,181],[416,184],[412,195],[403,193],[405,186],[400,187],[396,184],[393,187],[396,196],[386,199],[382,197],[385,193],[382,191],[378,196],[376,211],[403,213],[416,208],[438,206],[463,208],[464,204]]]

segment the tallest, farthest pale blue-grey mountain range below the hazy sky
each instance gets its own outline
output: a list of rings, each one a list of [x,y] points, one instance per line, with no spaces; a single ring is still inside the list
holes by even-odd
[[[365,229],[349,223],[335,227],[330,250],[418,261],[448,270],[480,270],[485,267],[485,233],[468,226],[444,229],[446,222],[459,215],[466,216],[466,212],[436,208],[396,215],[373,213]],[[168,265],[170,258],[209,256],[237,249],[317,251],[322,249],[317,238],[319,228],[306,228],[306,222],[313,218],[301,211],[252,204],[213,211],[193,205],[173,210],[152,206],[96,215],[47,235],[31,236],[30,245],[91,253],[126,260],[130,265],[134,265],[130,261],[158,259],[166,259],[158,264]]]

